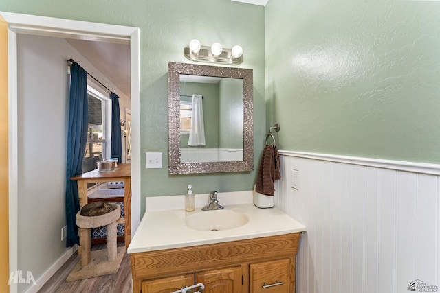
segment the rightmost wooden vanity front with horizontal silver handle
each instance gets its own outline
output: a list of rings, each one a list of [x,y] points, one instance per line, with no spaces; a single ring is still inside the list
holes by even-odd
[[[267,261],[249,266],[250,293],[289,293],[290,260]]]

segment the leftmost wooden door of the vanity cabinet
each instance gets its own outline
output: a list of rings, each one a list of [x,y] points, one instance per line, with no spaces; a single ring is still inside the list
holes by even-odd
[[[194,285],[194,274],[142,281],[142,293],[170,293]]]

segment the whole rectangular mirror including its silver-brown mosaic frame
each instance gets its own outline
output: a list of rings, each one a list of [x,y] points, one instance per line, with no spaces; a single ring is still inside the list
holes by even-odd
[[[170,174],[254,169],[252,74],[252,69],[168,63]],[[193,100],[201,100],[200,115]],[[201,129],[203,139],[196,136]]]

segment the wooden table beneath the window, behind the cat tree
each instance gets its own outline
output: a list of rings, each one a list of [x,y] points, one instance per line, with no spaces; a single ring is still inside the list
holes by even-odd
[[[124,224],[125,247],[131,242],[131,164],[118,164],[115,170],[98,172],[93,170],[70,178],[78,183],[80,208],[87,204],[87,183],[124,182],[124,218],[118,224]]]

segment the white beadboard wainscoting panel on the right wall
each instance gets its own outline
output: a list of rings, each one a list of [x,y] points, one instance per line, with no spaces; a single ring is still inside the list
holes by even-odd
[[[403,293],[415,280],[440,292],[437,174],[292,154],[281,172],[275,204],[307,227],[298,293]]]

